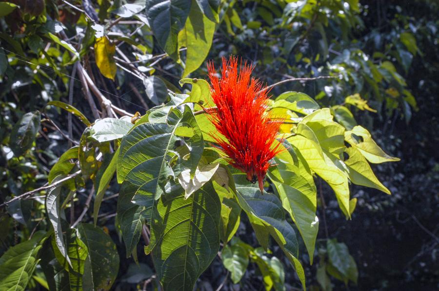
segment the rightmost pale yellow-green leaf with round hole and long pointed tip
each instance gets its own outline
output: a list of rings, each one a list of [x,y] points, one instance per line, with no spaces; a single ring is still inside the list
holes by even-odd
[[[369,131],[364,127],[356,126],[352,128],[352,130],[346,131],[344,138],[350,145],[357,148],[370,163],[379,164],[399,161],[399,158],[394,158],[386,154],[375,143]]]

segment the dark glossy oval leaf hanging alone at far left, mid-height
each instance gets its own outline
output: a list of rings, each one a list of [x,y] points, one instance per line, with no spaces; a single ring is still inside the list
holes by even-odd
[[[35,141],[35,136],[40,129],[40,111],[28,112],[12,127],[9,146],[16,156],[21,156]]]

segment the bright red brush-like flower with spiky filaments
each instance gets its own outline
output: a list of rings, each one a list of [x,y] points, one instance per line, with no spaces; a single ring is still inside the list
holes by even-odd
[[[208,113],[220,133],[212,137],[232,166],[247,173],[248,181],[259,182],[262,193],[270,160],[283,149],[274,144],[281,121],[265,111],[268,92],[251,77],[251,65],[241,62],[239,67],[238,73],[238,58],[223,57],[219,78],[214,64],[208,64],[211,95],[217,106]]]

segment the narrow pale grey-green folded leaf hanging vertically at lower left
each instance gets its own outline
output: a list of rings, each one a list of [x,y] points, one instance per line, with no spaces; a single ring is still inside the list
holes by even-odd
[[[58,176],[53,182],[61,180],[65,176]],[[64,242],[64,236],[62,235],[62,222],[61,216],[64,216],[61,209],[60,202],[61,186],[51,188],[46,195],[46,212],[50,223],[53,226],[54,241],[60,254],[66,259],[69,265],[72,265],[70,258],[67,256],[67,250]],[[62,212],[62,213],[61,213]]]

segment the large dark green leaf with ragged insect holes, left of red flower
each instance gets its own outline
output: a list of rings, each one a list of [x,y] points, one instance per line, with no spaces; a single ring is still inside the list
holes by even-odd
[[[174,109],[170,115],[169,124],[144,123],[134,127],[120,145],[118,181],[128,180],[156,199],[164,193],[170,177],[177,178],[184,169],[195,174],[203,151],[201,130],[191,109],[185,106],[183,113]],[[186,137],[179,136],[180,130]],[[187,137],[187,131],[191,137]],[[180,144],[189,149],[189,157],[180,156]]]

